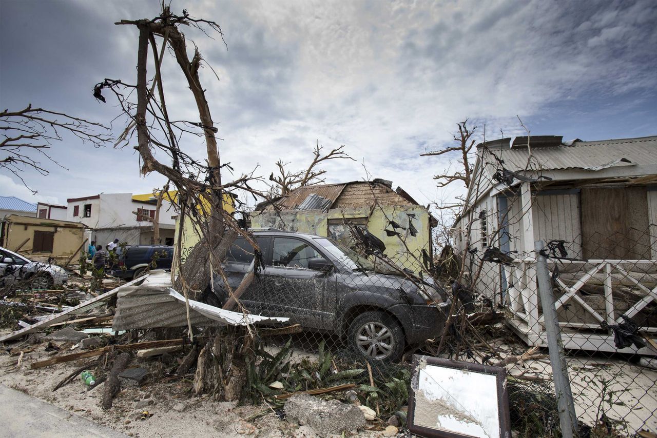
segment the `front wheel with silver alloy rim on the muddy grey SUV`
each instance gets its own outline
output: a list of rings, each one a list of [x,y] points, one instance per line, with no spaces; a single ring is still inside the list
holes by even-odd
[[[367,311],[351,321],[348,343],[370,362],[396,362],[404,351],[404,334],[397,320],[382,311]]]

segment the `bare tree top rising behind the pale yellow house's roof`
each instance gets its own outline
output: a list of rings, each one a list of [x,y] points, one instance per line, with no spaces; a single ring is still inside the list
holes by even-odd
[[[327,171],[317,169],[317,165],[328,160],[353,160],[353,158],[348,156],[343,149],[344,144],[339,148],[331,149],[328,154],[323,155],[323,146],[319,146],[319,141],[317,141],[315,149],[313,150],[313,161],[308,165],[306,170],[296,172],[290,171],[285,168],[290,163],[283,163],[283,160],[278,160],[276,166],[278,167],[280,174],[274,175],[272,172],[271,175],[269,175],[269,181],[273,181],[273,183],[279,186],[279,194],[281,194],[281,196],[288,194],[297,187],[323,183],[326,179],[321,178],[321,176],[327,173]]]

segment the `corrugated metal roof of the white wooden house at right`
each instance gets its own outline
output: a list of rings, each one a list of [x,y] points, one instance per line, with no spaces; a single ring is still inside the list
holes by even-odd
[[[503,160],[504,167],[510,171],[520,171],[527,167],[527,148],[488,146],[488,149]],[[489,162],[489,167],[497,167],[493,158],[484,156],[484,160]],[[570,146],[532,147],[532,163],[543,170],[599,170],[611,166],[657,164],[657,136],[576,141]]]

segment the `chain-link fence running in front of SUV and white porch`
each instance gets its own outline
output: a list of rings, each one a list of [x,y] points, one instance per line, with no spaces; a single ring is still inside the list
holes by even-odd
[[[240,303],[289,317],[292,327],[261,338],[247,369],[254,403],[281,406],[286,393],[327,391],[403,426],[417,353],[504,367],[512,429],[560,436],[535,257],[491,248],[463,260],[447,250],[434,263],[426,253],[393,260],[375,244],[355,252],[296,233],[256,238],[265,269]],[[580,436],[654,431],[657,261],[585,261],[570,257],[564,242],[551,242],[546,254]],[[231,286],[253,257],[238,239],[225,267]],[[223,281],[215,278],[208,303],[227,299]]]

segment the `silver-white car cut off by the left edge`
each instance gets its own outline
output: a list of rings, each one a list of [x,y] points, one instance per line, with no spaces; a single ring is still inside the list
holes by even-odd
[[[27,282],[32,289],[64,286],[68,274],[62,267],[32,261],[0,246],[0,288]]]

